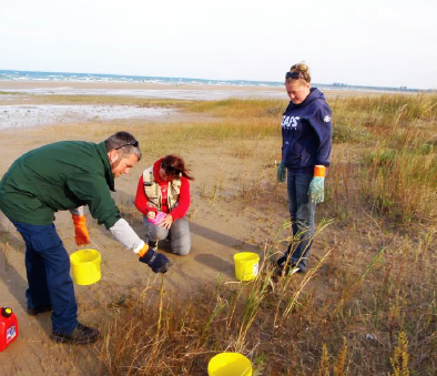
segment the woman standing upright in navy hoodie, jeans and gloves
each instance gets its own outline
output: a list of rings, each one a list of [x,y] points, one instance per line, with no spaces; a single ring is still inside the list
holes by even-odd
[[[281,124],[283,143],[277,181],[285,182],[287,175],[293,240],[277,260],[277,266],[280,273],[289,270],[302,273],[306,271],[313,243],[315,207],[324,201],[333,124],[325,95],[311,88],[309,69],[305,63],[294,64],[286,72],[285,89],[291,101]]]

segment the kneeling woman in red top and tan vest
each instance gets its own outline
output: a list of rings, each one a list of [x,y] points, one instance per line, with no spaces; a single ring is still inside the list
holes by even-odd
[[[143,171],[136,190],[135,206],[144,214],[146,242],[153,248],[169,238],[172,252],[184,256],[191,250],[189,220],[190,181],[185,162],[166,155]]]

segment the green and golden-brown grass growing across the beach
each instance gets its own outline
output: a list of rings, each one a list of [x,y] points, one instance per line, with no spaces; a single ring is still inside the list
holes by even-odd
[[[247,164],[256,159],[264,184],[223,172],[199,182],[200,200],[274,205],[286,220],[286,189],[274,181],[285,101],[162,105],[211,119],[131,123],[151,155],[195,148],[216,155],[217,169],[223,151]],[[256,375],[435,373],[437,95],[363,95],[331,105],[333,159],[308,272],[273,282],[272,261],[292,241],[285,226],[272,228],[253,282],[218,280],[181,301],[165,292],[164,276],[108,323],[98,345],[101,375],[206,375],[209,359],[224,350],[248,356]],[[262,143],[277,150],[254,152]]]

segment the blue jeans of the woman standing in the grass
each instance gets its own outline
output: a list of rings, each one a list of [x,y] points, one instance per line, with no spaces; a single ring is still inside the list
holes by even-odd
[[[303,272],[306,270],[306,258],[313,244],[314,235],[316,204],[309,201],[308,195],[313,175],[313,171],[293,172],[287,169],[287,190],[293,240],[288,245],[286,256],[292,252],[292,264],[298,266]]]

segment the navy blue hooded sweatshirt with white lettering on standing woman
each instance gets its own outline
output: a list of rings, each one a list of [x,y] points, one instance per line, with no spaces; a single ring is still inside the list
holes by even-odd
[[[332,112],[325,95],[312,88],[301,104],[292,101],[282,119],[282,161],[294,172],[313,171],[316,164],[329,166]]]

